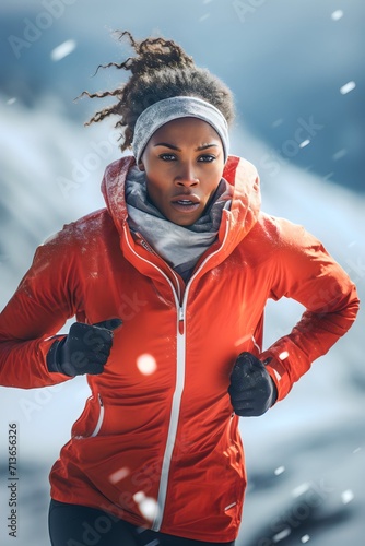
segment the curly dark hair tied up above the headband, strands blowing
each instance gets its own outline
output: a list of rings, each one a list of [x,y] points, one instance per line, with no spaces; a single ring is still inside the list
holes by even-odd
[[[117,98],[116,104],[96,111],[85,126],[102,121],[111,115],[119,116],[115,128],[125,127],[123,134],[120,135],[120,149],[123,151],[131,146],[140,114],[152,104],[175,96],[202,98],[221,110],[228,123],[233,121],[234,100],[231,90],[209,70],[197,67],[192,57],[175,41],[161,37],[137,41],[128,31],[115,34],[119,40],[127,36],[137,55],[120,63],[99,64],[96,72],[101,68],[115,67],[129,70],[131,75],[126,84],[114,91],[84,91],[80,95],[90,98]]]

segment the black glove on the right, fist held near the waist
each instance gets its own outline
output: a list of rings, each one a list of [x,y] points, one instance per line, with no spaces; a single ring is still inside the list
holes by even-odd
[[[235,414],[242,417],[264,414],[278,397],[275,383],[261,360],[251,353],[238,355],[231,373],[228,393]]]

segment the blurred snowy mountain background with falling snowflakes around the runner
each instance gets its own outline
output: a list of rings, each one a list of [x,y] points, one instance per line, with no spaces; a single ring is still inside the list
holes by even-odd
[[[233,90],[232,153],[261,177],[262,209],[305,225],[365,293],[364,15],[361,0],[2,0],[0,4],[0,304],[49,235],[104,206],[113,122],[83,123],[114,88],[95,69],[130,49],[111,32],[178,41]],[[303,309],[269,304],[264,345]],[[68,324],[64,327],[67,331]],[[237,546],[363,543],[364,313],[290,395],[242,419],[248,490]],[[46,546],[48,473],[89,389],[83,378],[0,388],[0,542],[8,535],[8,426],[19,426],[20,546]]]

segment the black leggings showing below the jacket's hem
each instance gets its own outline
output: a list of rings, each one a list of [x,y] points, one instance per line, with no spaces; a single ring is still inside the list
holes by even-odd
[[[234,546],[231,543],[209,543],[166,535],[137,527],[123,520],[80,505],[51,500],[49,535],[52,546]]]

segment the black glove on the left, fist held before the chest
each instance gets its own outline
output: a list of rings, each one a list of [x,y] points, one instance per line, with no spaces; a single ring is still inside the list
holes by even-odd
[[[96,324],[74,322],[68,335],[51,345],[47,354],[48,371],[70,377],[102,373],[110,354],[113,330],[120,324],[120,319]]]

